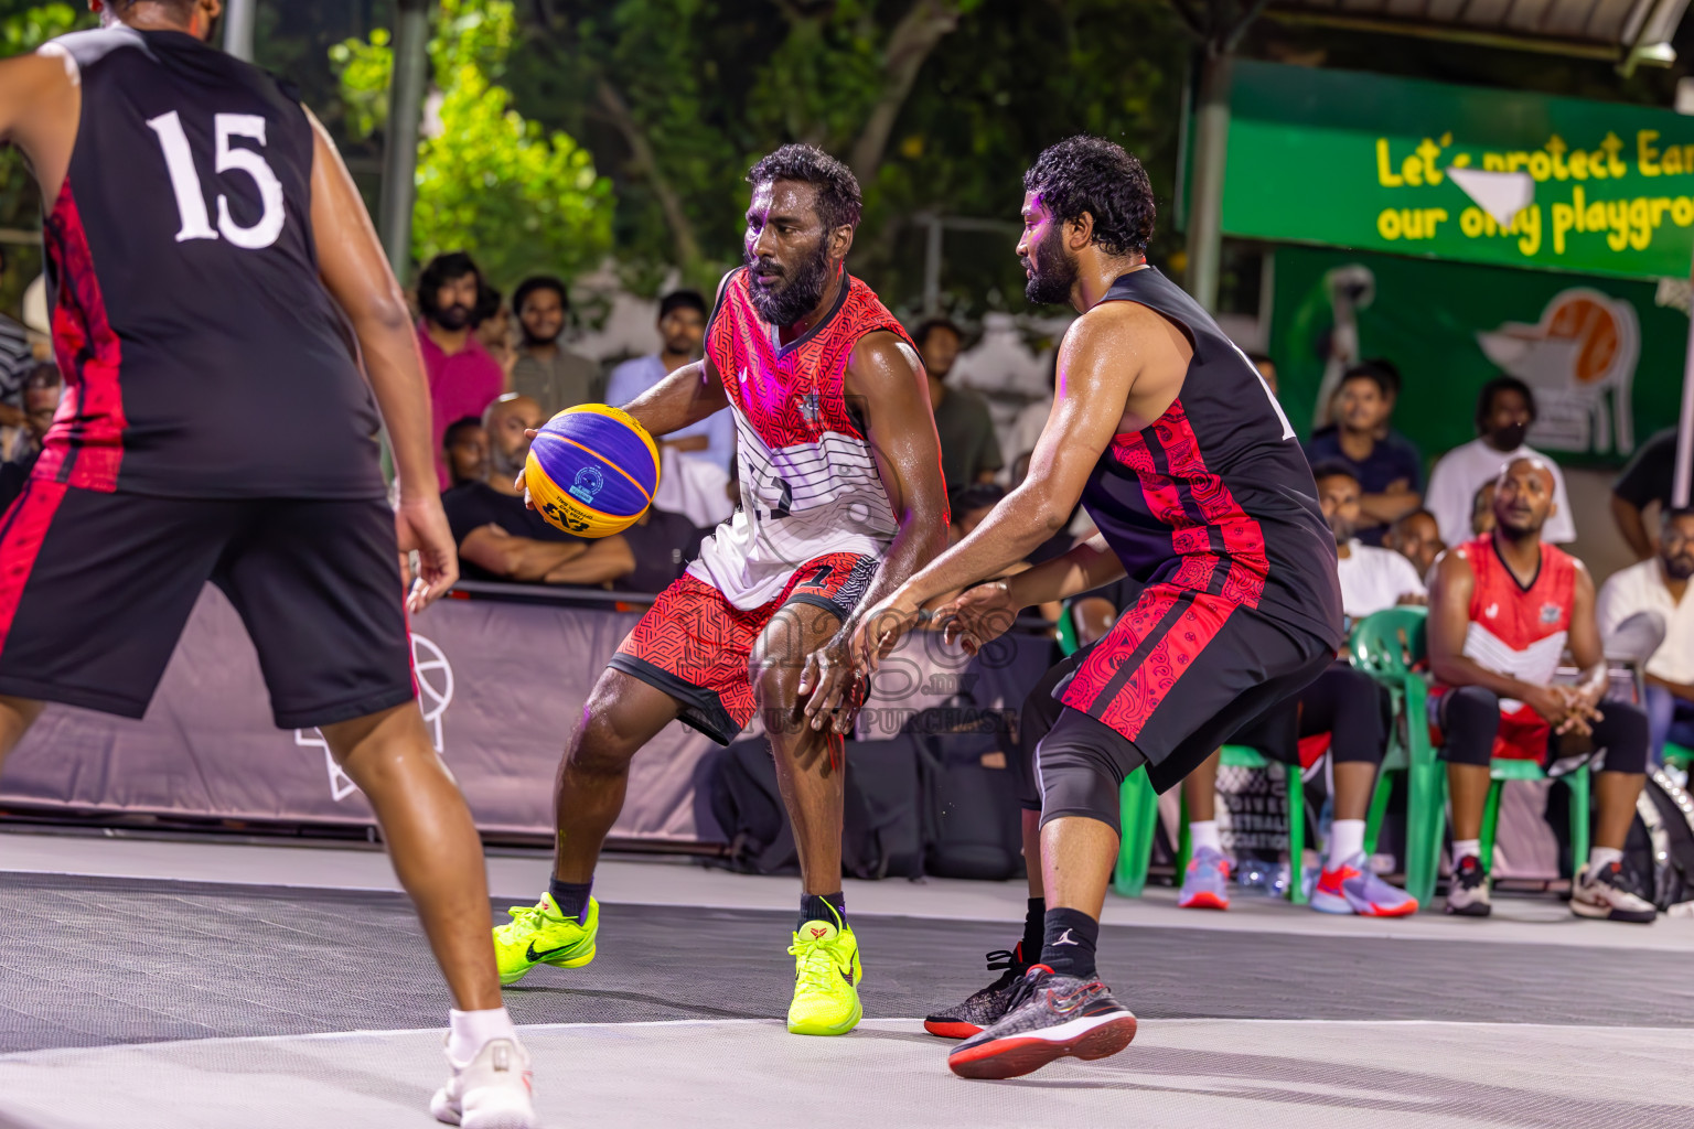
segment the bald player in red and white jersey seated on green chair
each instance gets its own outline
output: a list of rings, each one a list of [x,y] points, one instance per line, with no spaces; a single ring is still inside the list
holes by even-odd
[[[1623,841],[1647,772],[1647,714],[1606,694],[1606,658],[1594,614],[1594,581],[1581,560],[1542,540],[1553,516],[1555,479],[1545,459],[1523,455],[1494,487],[1494,531],[1435,562],[1430,587],[1430,667],[1453,812],[1453,882],[1447,912],[1491,912],[1481,858],[1482,807],[1494,757],[1543,760],[1604,750],[1594,777],[1594,846],[1572,882],[1581,917],[1652,921],[1623,870]],[[1582,675],[1555,686],[1569,645]]]

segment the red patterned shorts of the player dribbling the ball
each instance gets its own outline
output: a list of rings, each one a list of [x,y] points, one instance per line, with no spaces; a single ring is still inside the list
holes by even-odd
[[[845,621],[871,589],[877,565],[876,557],[859,553],[815,557],[794,569],[776,599],[752,611],[683,574],[659,592],[610,665],[674,697],[684,724],[728,745],[752,719],[747,664],[776,613],[784,604],[811,604]]]

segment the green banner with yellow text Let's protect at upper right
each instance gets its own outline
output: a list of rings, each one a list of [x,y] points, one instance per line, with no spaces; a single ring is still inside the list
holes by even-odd
[[[1694,118],[1672,110],[1243,61],[1230,113],[1228,235],[1689,276]]]

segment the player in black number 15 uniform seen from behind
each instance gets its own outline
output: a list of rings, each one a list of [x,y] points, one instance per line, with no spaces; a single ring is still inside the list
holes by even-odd
[[[369,797],[462,1009],[435,1115],[530,1126],[481,843],[413,701],[398,552],[422,559],[413,608],[457,562],[400,288],[291,88],[205,44],[222,0],[90,8],[102,30],[0,63],[0,137],[47,215],[68,388],[0,518],[0,757],[42,701],[142,716],[217,584],[276,724],[320,726]]]

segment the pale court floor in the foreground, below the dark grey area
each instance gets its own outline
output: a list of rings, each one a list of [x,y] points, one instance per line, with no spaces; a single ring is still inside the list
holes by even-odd
[[[966,1082],[916,1021],[837,1039],[776,1021],[527,1027],[540,1124],[1160,1129],[1686,1129],[1687,1031],[1171,1019],[1125,1053]],[[1594,1066],[1587,1066],[1594,1063]],[[1604,1063],[1601,1066],[1601,1063]],[[434,1031],[0,1056],[27,1129],[435,1124]]]

